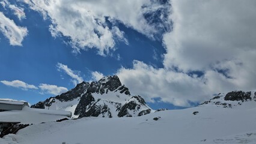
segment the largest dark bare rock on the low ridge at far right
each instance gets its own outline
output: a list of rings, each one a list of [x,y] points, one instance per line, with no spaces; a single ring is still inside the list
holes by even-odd
[[[228,94],[225,96],[224,100],[228,101],[248,101],[252,100],[251,98],[251,92],[243,92],[243,91],[233,91],[228,92]]]

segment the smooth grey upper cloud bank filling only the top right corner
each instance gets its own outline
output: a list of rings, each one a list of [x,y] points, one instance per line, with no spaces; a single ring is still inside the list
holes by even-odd
[[[172,1],[174,29],[165,34],[165,67],[209,70],[255,52],[255,1]]]

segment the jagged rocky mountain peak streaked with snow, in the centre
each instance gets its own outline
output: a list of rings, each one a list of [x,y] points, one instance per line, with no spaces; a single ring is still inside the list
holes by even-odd
[[[139,95],[130,95],[117,76],[107,76],[98,82],[82,82],[56,97],[47,98],[32,108],[67,110],[73,118],[132,117],[153,112]]]

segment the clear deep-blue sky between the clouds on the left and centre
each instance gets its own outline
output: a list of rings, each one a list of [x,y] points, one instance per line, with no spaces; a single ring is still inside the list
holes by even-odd
[[[11,4],[19,5],[14,1],[11,1]],[[49,31],[49,19],[44,20],[40,13],[29,10],[28,5],[23,7],[26,19],[22,20],[19,20],[8,8],[2,5],[0,7],[0,11],[8,18],[28,29],[28,35],[22,41],[22,46],[11,46],[8,38],[3,34],[0,35],[1,80],[20,80],[35,86],[47,83],[72,89],[75,87],[74,83],[67,74],[58,71],[56,66],[58,63],[80,71],[79,75],[85,81],[94,80],[92,71],[100,71],[108,76],[117,73],[121,67],[132,68],[134,59],[154,67],[163,67],[161,55],[165,49],[162,42],[152,40],[122,23],[118,23],[118,27],[126,34],[129,44],[118,41],[115,44],[117,50],[112,52],[111,56],[100,56],[97,55],[96,50],[90,49],[81,53],[72,53],[72,47],[65,43],[67,37],[52,37]],[[30,103],[37,103],[54,95],[42,94],[40,89],[17,89],[2,83],[0,88],[1,98],[26,100]]]

